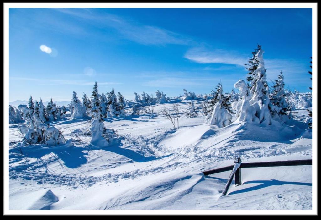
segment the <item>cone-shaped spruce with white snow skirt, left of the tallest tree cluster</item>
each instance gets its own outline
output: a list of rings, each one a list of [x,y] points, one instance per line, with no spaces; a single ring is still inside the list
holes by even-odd
[[[230,96],[223,95],[221,83],[216,87],[213,98],[210,100],[210,112],[206,116],[205,123],[217,125],[219,128],[231,123],[233,112],[230,106]]]

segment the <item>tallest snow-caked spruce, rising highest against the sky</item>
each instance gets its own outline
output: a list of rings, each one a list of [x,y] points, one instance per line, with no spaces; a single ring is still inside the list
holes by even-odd
[[[250,60],[252,66],[250,66],[248,70],[255,70],[249,74],[249,78],[252,79],[249,85],[252,98],[249,103],[256,109],[255,115],[260,120],[260,124],[271,125],[272,118],[269,110],[270,100],[267,94],[268,86],[266,82],[263,53],[264,51],[261,49],[261,46],[258,45],[256,53],[254,53],[252,60]]]

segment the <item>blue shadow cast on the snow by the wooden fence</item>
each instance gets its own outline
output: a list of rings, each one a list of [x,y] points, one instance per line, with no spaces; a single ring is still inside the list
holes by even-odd
[[[287,181],[279,181],[276,179],[247,181],[247,182],[243,183],[243,185],[248,184],[248,183],[262,183],[262,184],[257,185],[257,186],[253,186],[253,187],[249,187],[249,188],[245,188],[245,189],[236,190],[236,191],[230,192],[228,195],[250,192],[253,190],[262,189],[262,188],[269,187],[269,186],[281,186],[281,185],[285,185],[285,184],[312,186],[312,183],[287,182]]]

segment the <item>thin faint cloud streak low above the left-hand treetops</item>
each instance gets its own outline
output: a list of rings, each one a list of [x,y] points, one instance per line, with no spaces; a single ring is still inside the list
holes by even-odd
[[[94,85],[95,82],[82,80],[61,80],[61,79],[39,79],[39,78],[23,78],[10,77],[10,80],[34,81],[39,85]],[[98,85],[121,85],[119,82],[97,82]]]

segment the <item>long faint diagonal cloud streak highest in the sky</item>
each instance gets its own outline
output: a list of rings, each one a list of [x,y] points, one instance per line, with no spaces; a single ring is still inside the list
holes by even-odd
[[[99,28],[111,27],[116,29],[124,38],[146,45],[157,44],[188,44],[191,40],[169,30],[144,25],[136,21],[101,12],[94,13],[92,9],[55,9],[61,13],[69,14],[86,22],[91,22]]]

